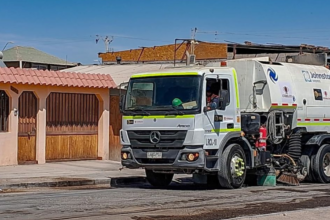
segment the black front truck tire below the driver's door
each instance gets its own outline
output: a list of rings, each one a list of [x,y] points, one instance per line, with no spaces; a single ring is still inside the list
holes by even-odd
[[[243,160],[242,162],[244,162],[244,164],[238,162],[243,172],[240,175],[233,174],[231,170],[232,159],[235,156],[241,158]],[[221,155],[220,165],[220,171],[218,172],[220,186],[225,189],[241,188],[246,178],[246,157],[243,148],[238,144],[229,145]]]

